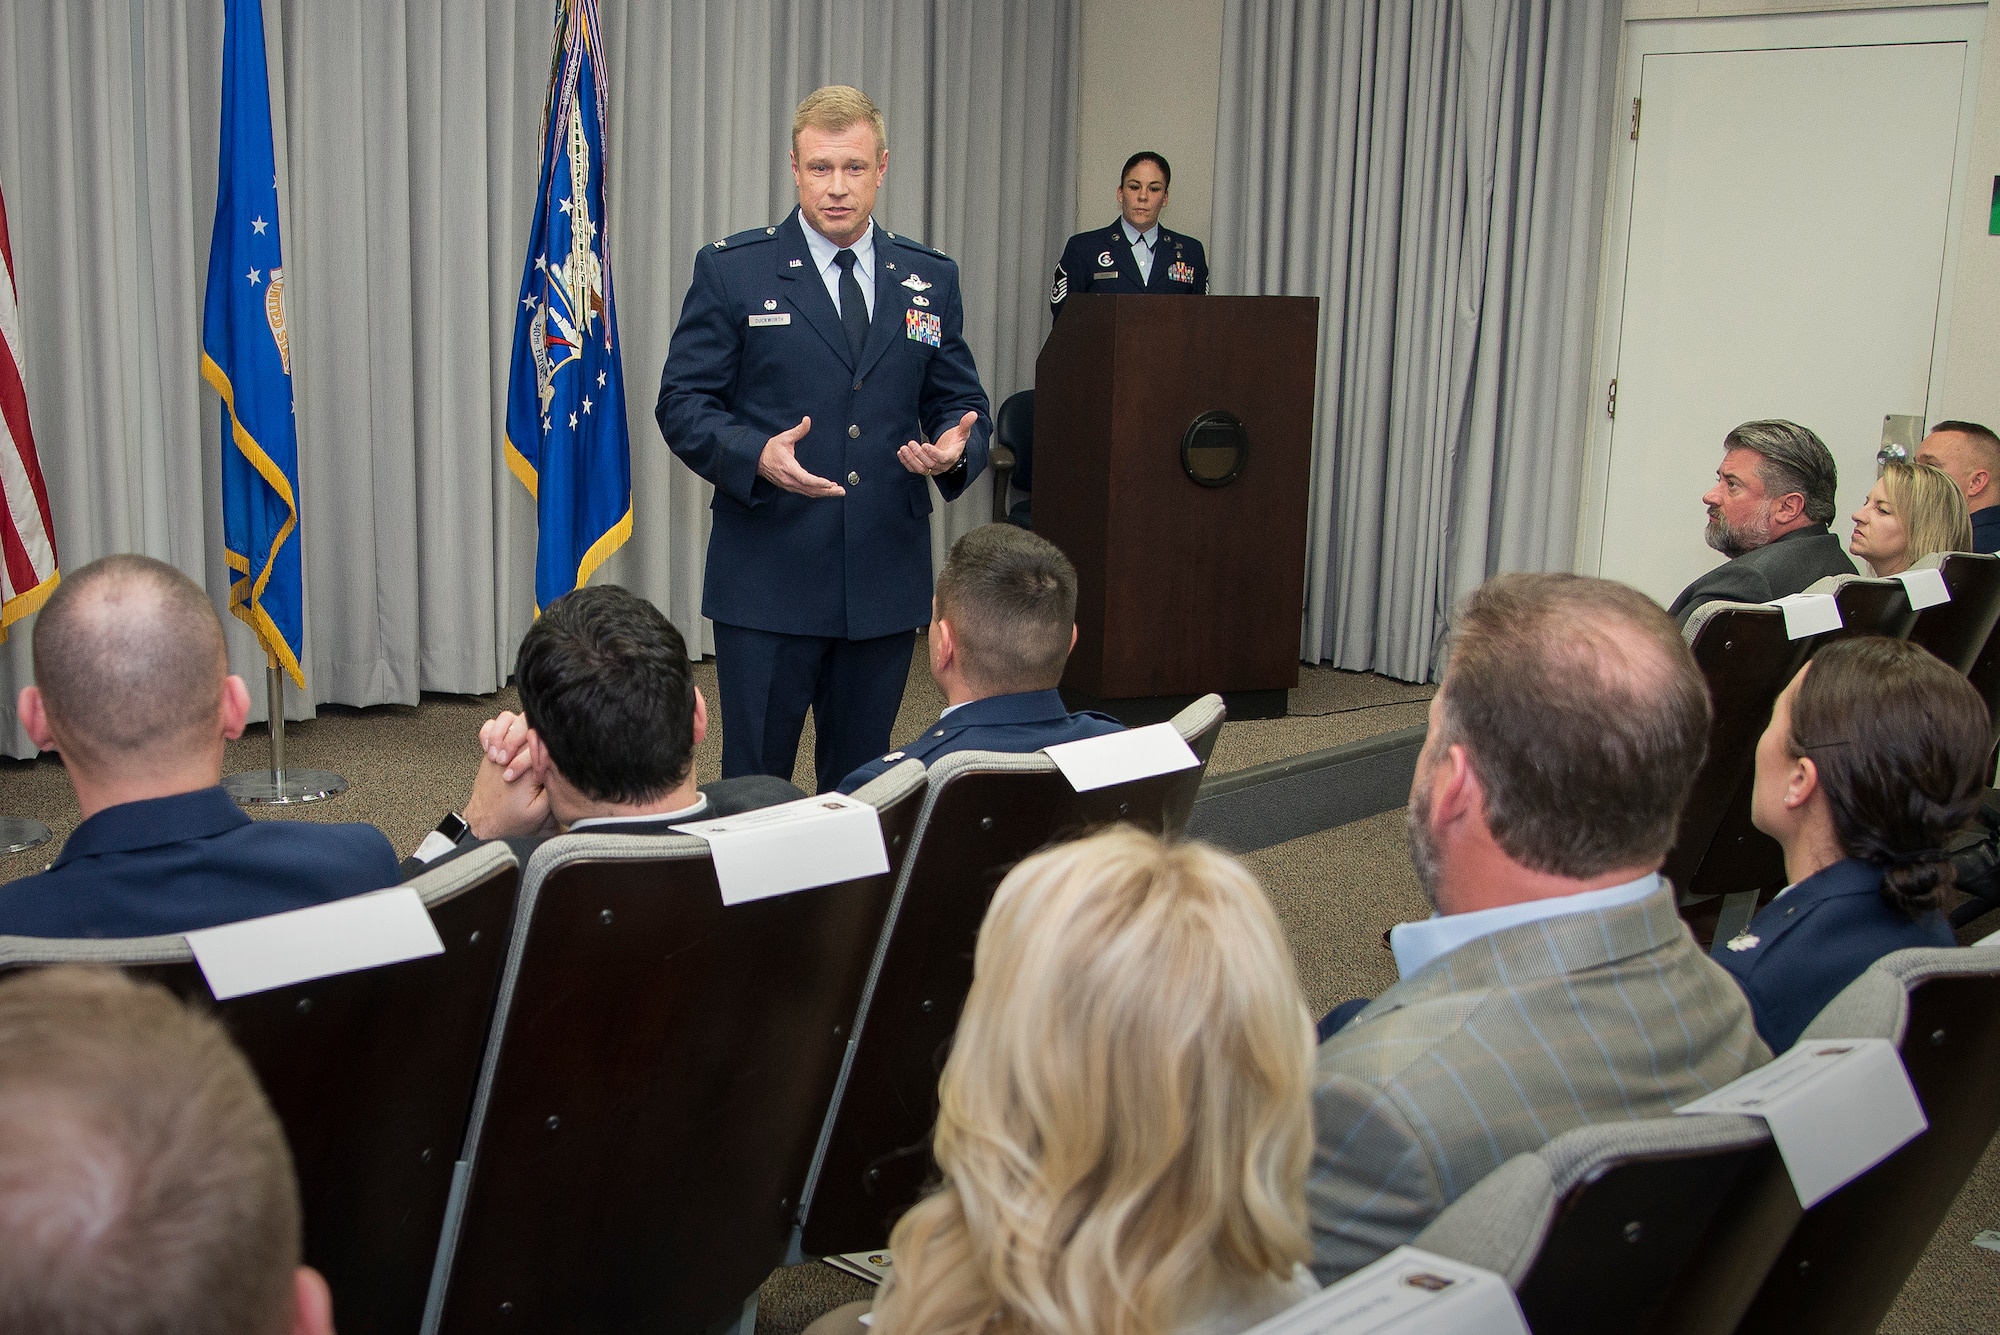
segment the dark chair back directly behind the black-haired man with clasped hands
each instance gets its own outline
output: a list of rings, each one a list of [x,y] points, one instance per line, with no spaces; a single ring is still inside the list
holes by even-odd
[[[924,767],[864,785],[882,875],[724,905],[692,835],[528,861],[424,1329],[700,1331],[784,1259]]]

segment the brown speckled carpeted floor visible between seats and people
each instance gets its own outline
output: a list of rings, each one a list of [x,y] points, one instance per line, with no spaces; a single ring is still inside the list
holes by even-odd
[[[714,668],[696,668],[696,679],[714,703]],[[1300,755],[1342,741],[1424,721],[1428,685],[1386,677],[1306,668],[1292,691],[1292,717],[1224,723],[1210,763],[1212,773]],[[908,741],[942,707],[918,642],[896,723],[894,743]],[[514,707],[514,691],[486,697],[426,695],[420,705],[370,709],[322,707],[320,717],[286,729],[294,765],[334,769],[354,785],[330,801],[294,809],[258,809],[256,815],[372,821],[398,851],[408,851],[438,817],[464,805],[478,765],[478,725],[496,709]],[[718,771],[720,733],[696,749],[704,777]],[[810,785],[810,723],[800,747],[798,779]],[[230,769],[268,763],[262,727],[230,743]],[[0,857],[0,881],[38,871],[76,827],[76,801],[62,765],[0,759],[0,815],[28,815],[48,823],[52,843]],[[1410,869],[1402,811],[1354,821],[1246,857],[1270,889],[1272,903],[1292,941],[1300,983],[1314,1009],[1376,995],[1396,981],[1396,965],[1382,947],[1382,931],[1422,917],[1428,907]],[[1990,931],[1994,919],[1974,927]],[[1970,939],[1974,933],[1966,933]],[[1960,1193],[1922,1263],[1910,1275],[1896,1307],[1882,1323],[1894,1335],[1944,1335],[1946,1331],[2000,1329],[2000,1253],[1972,1245],[1980,1229],[2000,1229],[2000,1145],[1988,1149],[1978,1173]],[[868,1285],[828,1265],[810,1263],[776,1271],[760,1293],[758,1335],[792,1335],[812,1317],[858,1297]]]

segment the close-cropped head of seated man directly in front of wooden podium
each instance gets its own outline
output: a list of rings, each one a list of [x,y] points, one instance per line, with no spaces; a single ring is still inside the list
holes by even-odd
[[[944,558],[938,616],[952,624],[976,687],[994,695],[1052,689],[1076,630],[1076,568],[1046,538],[984,524]]]

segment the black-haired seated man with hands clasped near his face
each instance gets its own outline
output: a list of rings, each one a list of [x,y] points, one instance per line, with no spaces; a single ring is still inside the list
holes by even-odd
[[[804,797],[764,773],[696,783],[694,747],[708,705],[688,646],[638,594],[596,584],[542,610],[514,658],[520,713],[480,727],[478,775],[464,815],[446,815],[404,859],[404,875],[484,839],[506,839],[526,863],[566,829],[672,833]]]

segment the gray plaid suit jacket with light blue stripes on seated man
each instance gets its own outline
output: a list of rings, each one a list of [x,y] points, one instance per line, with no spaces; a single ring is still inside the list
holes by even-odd
[[[1306,1179],[1320,1283],[1416,1237],[1512,1155],[1662,1117],[1770,1061],[1662,885],[1432,959],[1318,1055]]]

